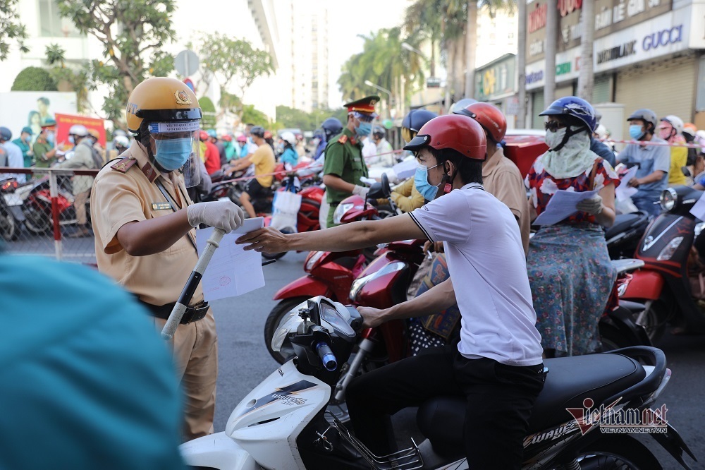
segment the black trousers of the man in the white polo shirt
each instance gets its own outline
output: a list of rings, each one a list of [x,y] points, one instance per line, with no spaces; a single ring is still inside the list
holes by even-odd
[[[357,438],[385,455],[396,450],[389,416],[431,397],[465,395],[463,441],[470,469],[520,469],[529,416],[544,387],[543,368],[467,359],[455,345],[429,348],[350,382],[350,420]]]

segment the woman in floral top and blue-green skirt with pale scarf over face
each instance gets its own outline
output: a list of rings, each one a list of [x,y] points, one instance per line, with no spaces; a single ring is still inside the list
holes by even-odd
[[[614,223],[619,179],[606,160],[590,151],[595,112],[588,102],[561,98],[540,115],[548,116],[550,150],[536,159],[525,179],[532,219],[559,189],[598,193],[578,203],[570,217],[542,226],[529,243],[537,329],[546,357],[588,354],[599,345],[598,323],[616,276],[603,227]]]

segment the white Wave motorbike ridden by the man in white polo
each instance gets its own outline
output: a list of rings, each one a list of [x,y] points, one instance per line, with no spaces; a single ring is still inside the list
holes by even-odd
[[[180,446],[185,462],[197,468],[265,469],[462,469],[465,397],[434,397],[419,407],[425,440],[407,450],[376,456],[326,411],[341,365],[348,361],[362,330],[355,308],[324,297],[302,303],[285,318],[273,339],[287,339],[296,358],[235,406],[226,430]],[[546,384],[525,438],[525,469],[655,469],[651,451],[626,434],[601,433],[566,409],[605,406],[615,413],[648,415],[670,380],[663,351],[632,347],[607,354],[547,359]],[[579,380],[577,380],[579,378]],[[634,411],[632,411],[634,410]],[[642,411],[645,411],[642,413]],[[631,415],[630,415],[631,416]],[[329,421],[330,420],[330,421]],[[588,423],[590,424],[590,423]],[[651,436],[688,468],[695,458],[670,423]]]

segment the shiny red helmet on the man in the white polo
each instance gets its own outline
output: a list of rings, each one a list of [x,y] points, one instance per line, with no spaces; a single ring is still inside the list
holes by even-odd
[[[467,158],[487,157],[487,138],[477,121],[461,114],[445,114],[424,124],[404,150],[418,152],[423,147],[436,150],[450,148]]]

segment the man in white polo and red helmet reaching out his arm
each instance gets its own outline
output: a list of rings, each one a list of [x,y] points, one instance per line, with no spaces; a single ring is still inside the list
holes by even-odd
[[[544,386],[541,337],[516,219],[482,188],[484,130],[467,116],[439,116],[404,149],[416,152],[415,184],[431,201],[427,205],[408,215],[325,231],[284,235],[268,227],[238,243],[276,253],[443,241],[450,279],[392,308],[359,310],[365,325],[376,327],[458,303],[460,342],[353,380],[346,398],[355,435],[375,454],[388,454],[395,447],[391,414],[434,396],[465,395],[463,438],[470,468],[520,469],[529,416]]]

